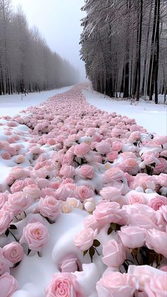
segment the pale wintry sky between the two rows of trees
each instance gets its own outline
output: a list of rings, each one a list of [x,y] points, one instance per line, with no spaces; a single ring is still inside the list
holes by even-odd
[[[12,0],[14,8],[21,4],[30,27],[37,26],[50,49],[79,68],[85,79],[84,62],[79,57],[84,0]]]

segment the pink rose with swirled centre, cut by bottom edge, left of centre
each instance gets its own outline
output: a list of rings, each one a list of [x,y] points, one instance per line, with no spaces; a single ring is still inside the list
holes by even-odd
[[[45,292],[46,297],[82,297],[76,276],[68,272],[54,274]]]

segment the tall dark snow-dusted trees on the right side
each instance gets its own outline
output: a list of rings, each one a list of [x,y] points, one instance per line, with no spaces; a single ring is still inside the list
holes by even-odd
[[[81,58],[96,91],[125,98],[166,93],[167,1],[85,0]]]

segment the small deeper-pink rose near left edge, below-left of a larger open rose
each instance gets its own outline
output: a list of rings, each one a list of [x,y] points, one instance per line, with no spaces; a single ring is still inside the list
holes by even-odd
[[[23,248],[20,243],[13,241],[4,246],[3,255],[8,261],[16,264],[23,259]]]

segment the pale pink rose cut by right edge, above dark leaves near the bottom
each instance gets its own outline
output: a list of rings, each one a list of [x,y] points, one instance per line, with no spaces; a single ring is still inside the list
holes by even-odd
[[[156,229],[147,230],[146,246],[158,254],[163,255],[163,257],[167,257],[166,232]]]

